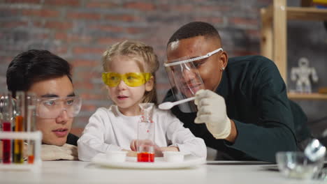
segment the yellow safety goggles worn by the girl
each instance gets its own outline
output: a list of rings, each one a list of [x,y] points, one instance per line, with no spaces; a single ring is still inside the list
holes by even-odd
[[[152,76],[148,72],[129,72],[125,74],[119,74],[116,72],[103,72],[102,80],[109,87],[118,86],[120,81],[124,81],[127,86],[136,87],[145,84],[150,80]]]

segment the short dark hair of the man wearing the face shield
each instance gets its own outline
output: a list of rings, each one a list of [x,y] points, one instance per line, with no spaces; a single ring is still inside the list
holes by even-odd
[[[175,31],[173,36],[169,38],[167,45],[177,40],[193,38],[196,36],[217,37],[220,40],[217,29],[215,29],[215,27],[211,24],[207,22],[190,22],[184,26],[181,26],[180,29]]]

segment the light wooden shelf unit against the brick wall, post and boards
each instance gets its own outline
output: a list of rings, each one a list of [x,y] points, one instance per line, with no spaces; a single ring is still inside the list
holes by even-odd
[[[287,7],[286,0],[274,0],[261,8],[261,54],[273,60],[287,83],[287,20],[327,20],[327,9]],[[289,93],[291,99],[327,100],[327,94]]]

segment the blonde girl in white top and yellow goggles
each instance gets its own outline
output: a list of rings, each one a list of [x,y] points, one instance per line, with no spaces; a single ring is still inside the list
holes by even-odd
[[[149,45],[125,40],[103,53],[103,82],[115,105],[101,107],[89,118],[78,140],[78,158],[91,160],[97,153],[129,151],[136,155],[135,139],[141,102],[156,103],[155,72],[159,61]],[[182,151],[206,157],[203,139],[194,137],[168,111],[154,108],[156,156],[162,151]]]

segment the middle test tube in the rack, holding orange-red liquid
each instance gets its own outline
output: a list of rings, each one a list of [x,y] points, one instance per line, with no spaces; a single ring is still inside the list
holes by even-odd
[[[23,91],[16,92],[16,112],[15,112],[15,132],[24,131],[24,121],[25,121],[25,93]],[[23,163],[24,154],[23,154],[24,144],[22,139],[14,140],[14,153],[13,153],[13,162],[14,163]]]

